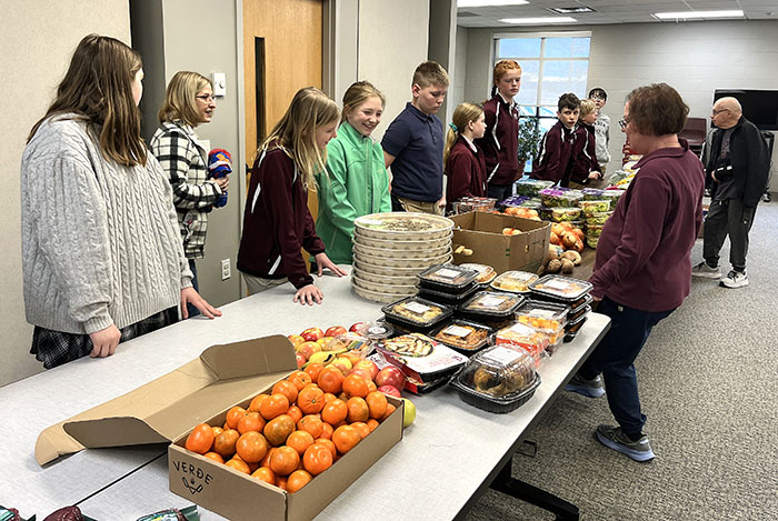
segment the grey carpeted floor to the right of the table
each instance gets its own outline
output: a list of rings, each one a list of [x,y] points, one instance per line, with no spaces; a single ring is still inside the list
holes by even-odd
[[[562,392],[527,435],[537,455],[513,458],[515,477],[575,503],[586,521],[778,519],[778,202],[759,206],[750,239],[750,285],[692,280],[638,358],[657,458],[637,463],[605,448],[592,433],[612,423],[606,399]],[[698,240],[694,263],[701,252]],[[727,241],[725,274],[728,256]],[[488,491],[467,519],[555,518]]]

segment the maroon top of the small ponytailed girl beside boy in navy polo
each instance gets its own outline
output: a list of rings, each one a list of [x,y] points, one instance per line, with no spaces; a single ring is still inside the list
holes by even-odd
[[[446,201],[448,210],[451,203],[463,197],[486,197],[486,163],[483,152],[470,144],[461,136],[451,147],[446,163]]]

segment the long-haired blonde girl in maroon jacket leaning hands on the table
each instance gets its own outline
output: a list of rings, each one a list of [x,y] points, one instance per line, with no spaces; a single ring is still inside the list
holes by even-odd
[[[295,302],[321,303],[301,248],[315,257],[319,277],[323,268],[346,274],[325,253],[308,210],[308,188],[325,170],[327,142],[339,118],[338,107],[319,89],[300,89],[257,151],[238,250],[238,270],[250,294],[288,280],[297,289]]]

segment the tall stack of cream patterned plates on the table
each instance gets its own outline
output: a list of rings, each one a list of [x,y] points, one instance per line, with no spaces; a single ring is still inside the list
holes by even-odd
[[[416,294],[416,275],[451,261],[450,219],[428,213],[372,213],[355,221],[355,292],[376,302]]]

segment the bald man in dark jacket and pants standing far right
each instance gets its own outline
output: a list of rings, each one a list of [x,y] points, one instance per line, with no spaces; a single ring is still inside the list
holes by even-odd
[[[742,117],[742,108],[735,98],[716,101],[710,120],[718,130],[714,133],[706,162],[706,174],[712,183],[710,209],[705,219],[705,261],[697,264],[691,273],[695,277],[721,279],[719,251],[729,236],[732,269],[719,285],[742,288],[748,285],[748,232],[767,187],[770,157],[765,138],[754,123]]]

